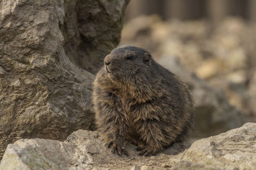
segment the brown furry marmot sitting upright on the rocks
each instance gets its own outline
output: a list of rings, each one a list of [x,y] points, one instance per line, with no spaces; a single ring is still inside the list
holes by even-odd
[[[93,82],[95,120],[108,147],[127,154],[124,140],[143,143],[139,155],[156,155],[184,140],[193,126],[188,87],[136,46],[115,48]]]

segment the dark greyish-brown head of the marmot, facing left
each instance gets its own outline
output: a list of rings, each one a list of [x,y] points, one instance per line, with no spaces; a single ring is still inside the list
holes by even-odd
[[[147,50],[136,46],[115,48],[104,59],[104,71],[113,81],[136,79],[139,74],[147,74],[152,57]]]

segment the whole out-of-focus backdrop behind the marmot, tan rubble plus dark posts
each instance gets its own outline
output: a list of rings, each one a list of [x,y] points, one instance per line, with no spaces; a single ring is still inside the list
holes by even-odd
[[[145,48],[188,84],[193,79],[196,103],[209,100],[207,104],[211,105],[211,100],[214,103],[221,99],[208,111],[200,105],[204,114],[198,114],[201,117],[197,119],[204,119],[202,122],[214,121],[216,117],[209,116],[209,112],[221,107],[219,119],[232,122],[224,118],[230,112],[220,106],[224,101],[249,117],[248,122],[256,121],[255,0],[131,0],[120,45]],[[184,76],[188,73],[199,79]],[[207,90],[195,90],[204,87],[195,85],[202,82],[224,97],[209,99]],[[234,121],[239,122],[237,119]],[[213,129],[217,126],[220,124],[214,124]]]

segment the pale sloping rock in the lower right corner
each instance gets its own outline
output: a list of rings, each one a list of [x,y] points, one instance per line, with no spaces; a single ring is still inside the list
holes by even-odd
[[[255,169],[256,124],[195,141],[182,153],[183,160],[214,169]]]

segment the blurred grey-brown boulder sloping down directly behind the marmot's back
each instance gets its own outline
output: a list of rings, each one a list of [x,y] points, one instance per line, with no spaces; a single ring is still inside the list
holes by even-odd
[[[204,80],[182,67],[175,57],[161,57],[159,64],[177,74],[189,85],[195,99],[196,117],[193,137],[202,138],[241,127],[249,119],[231,106],[226,97]]]

